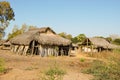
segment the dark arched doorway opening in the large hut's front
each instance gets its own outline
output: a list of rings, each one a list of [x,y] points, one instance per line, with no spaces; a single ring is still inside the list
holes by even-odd
[[[39,45],[39,43],[37,41],[35,41],[35,40],[30,42],[29,53],[31,55],[39,55],[38,45]]]

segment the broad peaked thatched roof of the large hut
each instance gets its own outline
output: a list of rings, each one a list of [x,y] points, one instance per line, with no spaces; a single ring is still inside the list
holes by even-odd
[[[70,45],[71,41],[57,35],[51,28],[43,27],[30,30],[21,35],[18,35],[10,40],[12,44],[29,45],[31,41],[37,41],[43,45]]]

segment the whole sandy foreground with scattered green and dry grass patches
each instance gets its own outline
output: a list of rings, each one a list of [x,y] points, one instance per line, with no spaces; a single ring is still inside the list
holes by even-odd
[[[119,80],[119,61],[118,51],[40,57],[0,50],[0,80]]]

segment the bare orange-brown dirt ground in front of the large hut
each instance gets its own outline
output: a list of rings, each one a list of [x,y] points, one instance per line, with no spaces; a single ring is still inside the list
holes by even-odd
[[[11,53],[10,51],[0,50],[0,58],[5,60],[5,67],[8,68],[6,74],[0,75],[0,80],[41,80],[46,70],[54,65],[66,71],[63,80],[90,80],[92,75],[81,73],[81,69],[89,65],[91,59],[83,56],[77,57],[40,57],[23,56]]]

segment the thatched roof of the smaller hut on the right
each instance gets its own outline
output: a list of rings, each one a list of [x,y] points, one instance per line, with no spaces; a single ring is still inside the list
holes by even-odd
[[[95,47],[103,47],[103,48],[115,48],[112,44],[110,44],[107,40],[103,38],[87,38],[83,44],[87,45],[87,40],[88,40],[88,45],[92,44]]]

